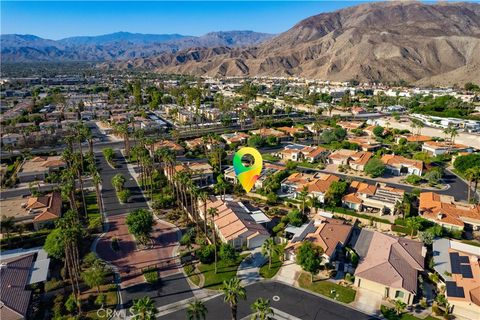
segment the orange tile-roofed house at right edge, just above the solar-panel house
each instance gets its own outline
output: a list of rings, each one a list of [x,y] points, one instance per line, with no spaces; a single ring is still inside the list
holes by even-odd
[[[456,230],[480,230],[480,205],[456,202],[452,196],[420,193],[419,214],[432,222]]]

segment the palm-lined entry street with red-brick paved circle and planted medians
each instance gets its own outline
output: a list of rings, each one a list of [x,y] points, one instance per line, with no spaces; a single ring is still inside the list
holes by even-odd
[[[148,265],[165,265],[160,271],[160,284],[149,285],[143,283],[143,276],[126,276],[122,282],[122,301],[124,306],[131,304],[132,299],[142,296],[154,298],[157,306],[172,303],[178,299],[186,299],[193,296],[190,286],[183,273],[178,269],[175,259],[175,250],[178,243],[178,235],[172,230],[171,225],[158,221],[152,234],[155,245],[146,250],[137,250],[132,237],[128,234],[125,226],[125,215],[135,209],[148,209],[148,204],[135,179],[130,174],[127,162],[120,151],[116,154],[116,168],[112,169],[103,155],[97,154],[97,163],[102,176],[102,198],[106,215],[111,222],[110,230],[98,242],[99,255],[119,267],[120,273],[125,268],[130,271],[138,271]],[[129,203],[121,204],[112,186],[112,177],[121,173],[126,178],[125,187],[129,188],[132,194]],[[110,239],[116,236],[120,239],[120,252],[113,252],[110,247]],[[129,271],[129,270],[127,270]]]

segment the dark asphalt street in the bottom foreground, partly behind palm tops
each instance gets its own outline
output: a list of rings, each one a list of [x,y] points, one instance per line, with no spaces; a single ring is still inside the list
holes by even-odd
[[[376,319],[349,307],[337,304],[315,294],[275,282],[257,282],[246,287],[247,300],[240,300],[238,305],[238,319],[249,316],[252,311],[250,305],[257,298],[267,298],[271,306],[284,313],[302,320],[363,320]],[[207,319],[230,319],[230,307],[223,302],[223,295],[205,301],[208,309]],[[160,319],[184,320],[185,309],[167,314]]]

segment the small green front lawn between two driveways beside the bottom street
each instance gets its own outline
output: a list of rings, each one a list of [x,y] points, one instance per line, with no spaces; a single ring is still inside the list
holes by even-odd
[[[300,287],[304,289],[320,293],[321,295],[329,298],[334,298],[332,290],[335,290],[336,294],[338,295],[336,300],[343,303],[350,303],[355,300],[356,291],[352,288],[344,287],[327,280],[314,281],[312,284],[310,274],[308,273],[302,273],[298,278],[298,283]]]

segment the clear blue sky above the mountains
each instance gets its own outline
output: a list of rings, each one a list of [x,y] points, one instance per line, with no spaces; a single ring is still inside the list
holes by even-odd
[[[202,35],[210,31],[280,33],[303,18],[360,1],[1,1],[1,33],[48,39],[116,31]]]

